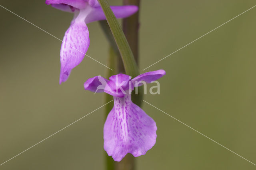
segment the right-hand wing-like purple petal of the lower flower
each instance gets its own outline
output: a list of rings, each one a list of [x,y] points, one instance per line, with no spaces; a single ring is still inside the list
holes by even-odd
[[[146,83],[151,83],[152,81],[158,80],[159,78],[161,78],[164,75],[165,75],[164,70],[156,70],[156,71],[152,71],[152,72],[146,72],[146,73],[140,74],[139,76],[133,78],[132,83],[136,86],[141,86],[142,83],[138,84],[138,82],[144,81]],[[136,82],[137,82],[137,84],[136,84]]]

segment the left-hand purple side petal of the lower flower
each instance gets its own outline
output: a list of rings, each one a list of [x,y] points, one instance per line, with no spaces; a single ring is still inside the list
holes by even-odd
[[[89,78],[85,83],[84,83],[84,89],[85,90],[90,90],[91,92],[104,92],[105,86],[109,82],[106,78],[102,76],[96,76],[93,78]]]

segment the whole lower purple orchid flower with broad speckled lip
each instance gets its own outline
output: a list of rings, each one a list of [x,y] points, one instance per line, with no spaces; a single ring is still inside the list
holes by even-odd
[[[132,103],[131,91],[142,81],[151,83],[165,75],[164,70],[146,72],[133,78],[126,74],[109,80],[96,76],[84,83],[85,90],[106,92],[114,97],[114,107],[104,124],[104,149],[115,161],[127,153],[137,157],[146,154],[156,143],[156,122]]]

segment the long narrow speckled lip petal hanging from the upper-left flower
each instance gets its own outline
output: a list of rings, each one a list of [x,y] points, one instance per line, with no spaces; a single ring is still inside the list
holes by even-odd
[[[65,33],[60,50],[60,84],[65,82],[71,70],[83,60],[88,50],[90,39],[83,10],[72,21]]]

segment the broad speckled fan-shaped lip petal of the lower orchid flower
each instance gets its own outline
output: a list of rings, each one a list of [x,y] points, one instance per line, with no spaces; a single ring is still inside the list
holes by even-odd
[[[127,153],[137,157],[146,154],[156,143],[156,123],[131,96],[114,97],[114,108],[104,124],[104,149],[115,161]]]

